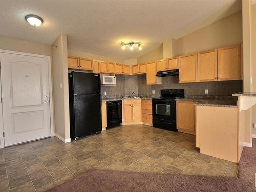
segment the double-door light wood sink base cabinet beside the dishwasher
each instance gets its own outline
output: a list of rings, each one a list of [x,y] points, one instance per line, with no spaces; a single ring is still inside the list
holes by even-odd
[[[142,124],[141,99],[124,99],[122,103],[122,124]]]

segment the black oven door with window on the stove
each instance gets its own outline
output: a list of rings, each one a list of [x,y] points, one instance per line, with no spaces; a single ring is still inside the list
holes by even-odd
[[[153,118],[176,122],[176,101],[153,100]]]

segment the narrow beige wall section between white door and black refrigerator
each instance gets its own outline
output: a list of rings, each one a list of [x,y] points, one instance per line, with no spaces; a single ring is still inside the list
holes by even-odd
[[[52,74],[55,133],[70,139],[67,34],[61,33],[52,45]]]

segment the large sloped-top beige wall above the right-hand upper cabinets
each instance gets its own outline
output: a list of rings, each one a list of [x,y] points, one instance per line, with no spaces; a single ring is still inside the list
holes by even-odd
[[[177,40],[173,39],[173,56],[238,45],[242,41],[242,12],[239,11]]]

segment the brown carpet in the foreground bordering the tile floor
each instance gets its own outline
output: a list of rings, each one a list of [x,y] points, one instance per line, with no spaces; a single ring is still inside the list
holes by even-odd
[[[256,191],[256,139],[245,147],[238,178],[90,170],[49,191]]]

